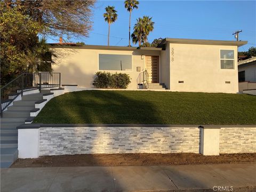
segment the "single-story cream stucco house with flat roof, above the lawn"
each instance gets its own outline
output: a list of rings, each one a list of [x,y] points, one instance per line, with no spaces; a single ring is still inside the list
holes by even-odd
[[[129,74],[128,89],[148,74],[149,89],[164,84],[171,91],[237,93],[237,47],[246,43],[165,38],[158,47],[50,45],[62,84],[91,88],[97,71],[109,71]]]

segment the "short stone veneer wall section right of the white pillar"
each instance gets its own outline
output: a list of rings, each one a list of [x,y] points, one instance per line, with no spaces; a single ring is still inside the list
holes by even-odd
[[[256,128],[221,128],[220,154],[224,153],[256,153]]]

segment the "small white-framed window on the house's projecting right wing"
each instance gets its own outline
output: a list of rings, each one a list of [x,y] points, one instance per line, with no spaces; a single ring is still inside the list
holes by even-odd
[[[235,69],[234,50],[220,50],[220,68]]]

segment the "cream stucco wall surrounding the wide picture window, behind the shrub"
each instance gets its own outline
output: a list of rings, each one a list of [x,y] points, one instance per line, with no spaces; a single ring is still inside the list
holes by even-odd
[[[97,49],[70,49],[54,48],[58,58],[53,58],[55,65],[53,70],[61,73],[62,84],[77,84],[78,87],[92,88],[94,75],[99,71],[99,54],[130,54],[132,55],[132,71],[109,71],[110,73],[126,73],[131,77],[128,89],[137,89],[137,78],[141,71],[145,70],[145,57],[141,55],[160,55],[160,51],[135,50],[97,50]],[[137,71],[141,67],[141,71]]]

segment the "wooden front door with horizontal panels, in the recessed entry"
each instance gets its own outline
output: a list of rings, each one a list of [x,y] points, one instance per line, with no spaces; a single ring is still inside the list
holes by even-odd
[[[148,83],[159,83],[159,56],[146,56]]]

